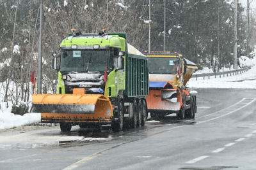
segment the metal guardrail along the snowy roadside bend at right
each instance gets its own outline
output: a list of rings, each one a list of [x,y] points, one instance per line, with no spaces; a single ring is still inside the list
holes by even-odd
[[[205,77],[208,77],[208,79],[210,79],[210,76],[215,76],[215,78],[216,78],[216,76],[220,76],[220,78],[221,78],[221,75],[223,75],[223,77],[225,77],[225,75],[227,75],[228,76],[228,74],[230,75],[230,76],[232,76],[232,74],[234,75],[234,74],[242,74],[242,73],[244,73],[245,71],[248,71],[248,69],[250,69],[251,67],[244,67],[243,69],[236,69],[236,70],[231,70],[231,71],[224,71],[224,72],[219,72],[219,73],[202,73],[202,74],[193,74],[192,75],[192,78],[196,78],[196,80],[197,80],[197,78],[199,78],[199,77],[204,77],[204,79],[205,79]]]

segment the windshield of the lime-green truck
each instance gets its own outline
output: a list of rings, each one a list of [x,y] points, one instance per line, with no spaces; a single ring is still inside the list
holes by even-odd
[[[104,72],[107,66],[111,71],[110,50],[63,50],[61,51],[60,71],[99,71]]]

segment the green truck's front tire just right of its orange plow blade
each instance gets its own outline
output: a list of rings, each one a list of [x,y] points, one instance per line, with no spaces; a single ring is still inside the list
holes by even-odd
[[[118,116],[118,121],[117,122],[113,121],[113,124],[112,124],[112,130],[114,132],[122,131],[124,126],[124,105],[121,99],[118,99],[117,116]]]

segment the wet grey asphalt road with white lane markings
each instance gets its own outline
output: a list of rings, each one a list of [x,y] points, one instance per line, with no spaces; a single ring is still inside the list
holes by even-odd
[[[195,90],[195,120],[2,132],[0,169],[256,169],[256,90]]]

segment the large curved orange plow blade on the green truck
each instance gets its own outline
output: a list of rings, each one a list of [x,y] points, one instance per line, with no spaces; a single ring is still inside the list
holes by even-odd
[[[101,94],[33,94],[32,102],[45,123],[110,123],[113,117],[109,98]]]

